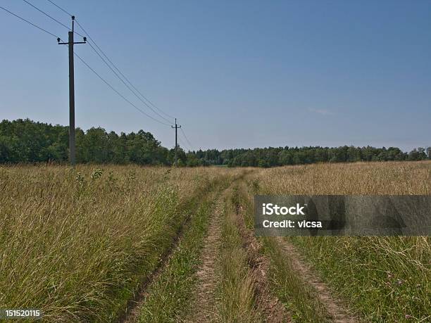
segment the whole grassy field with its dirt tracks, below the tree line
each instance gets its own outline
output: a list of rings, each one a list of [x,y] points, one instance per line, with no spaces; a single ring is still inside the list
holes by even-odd
[[[428,322],[429,237],[256,239],[252,198],[430,183],[430,162],[0,167],[0,308],[46,322]]]

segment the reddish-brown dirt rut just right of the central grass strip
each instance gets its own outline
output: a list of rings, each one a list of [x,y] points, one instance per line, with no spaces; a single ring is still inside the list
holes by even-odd
[[[266,322],[292,322],[291,315],[287,312],[285,305],[270,293],[268,281],[268,270],[270,260],[261,255],[261,243],[259,243],[251,230],[246,228],[244,220],[244,209],[241,205],[236,206],[237,227],[243,241],[243,248],[249,255],[249,267],[256,279],[256,305],[261,310]]]

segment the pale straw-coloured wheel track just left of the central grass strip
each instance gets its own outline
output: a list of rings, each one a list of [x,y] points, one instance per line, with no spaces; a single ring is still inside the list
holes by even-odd
[[[223,197],[226,194],[225,192],[218,197],[208,226],[208,234],[201,252],[201,265],[196,272],[194,303],[190,310],[190,317],[186,322],[213,322],[217,320],[215,287],[217,286],[218,277],[215,274],[215,265],[222,236],[221,217],[224,213]]]

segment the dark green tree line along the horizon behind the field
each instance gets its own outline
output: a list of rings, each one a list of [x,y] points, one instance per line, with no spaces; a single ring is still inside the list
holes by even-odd
[[[125,134],[91,128],[76,130],[77,163],[135,163],[173,165],[174,148],[165,148],[150,132]],[[396,147],[268,147],[177,150],[178,165],[228,167],[274,167],[310,163],[431,159],[431,147],[409,153]],[[68,127],[34,122],[29,119],[0,122],[0,163],[65,163],[68,160]]]

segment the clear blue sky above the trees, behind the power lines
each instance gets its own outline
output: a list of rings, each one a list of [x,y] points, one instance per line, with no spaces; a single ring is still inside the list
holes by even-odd
[[[27,1],[70,24],[49,1]],[[431,145],[430,0],[54,2],[195,149]],[[0,6],[67,39],[21,0]],[[88,44],[75,51],[152,113]],[[173,129],[77,60],[75,84],[77,127],[144,129],[174,146]],[[0,10],[0,119],[17,118],[68,125],[68,51]]]

